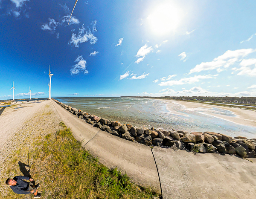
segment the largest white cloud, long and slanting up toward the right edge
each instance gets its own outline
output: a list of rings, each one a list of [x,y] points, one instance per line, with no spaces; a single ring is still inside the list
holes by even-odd
[[[227,68],[236,62],[241,61],[242,58],[255,52],[256,49],[239,49],[239,50],[228,50],[223,55],[214,58],[211,62],[202,62],[191,69],[189,74],[193,72],[201,72],[204,70],[219,69],[221,67]]]

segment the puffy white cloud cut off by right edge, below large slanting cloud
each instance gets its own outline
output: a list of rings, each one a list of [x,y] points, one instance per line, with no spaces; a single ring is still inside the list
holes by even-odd
[[[256,59],[243,59],[239,66],[241,66],[239,69],[236,69],[236,71],[240,71],[237,75],[247,75],[251,77],[256,77]]]

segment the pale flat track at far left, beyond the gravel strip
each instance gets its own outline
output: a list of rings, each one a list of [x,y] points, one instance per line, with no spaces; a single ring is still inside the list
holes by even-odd
[[[47,101],[40,102],[19,102],[10,107],[0,108],[0,147],[9,140],[16,130],[30,118],[42,106],[45,106]]]

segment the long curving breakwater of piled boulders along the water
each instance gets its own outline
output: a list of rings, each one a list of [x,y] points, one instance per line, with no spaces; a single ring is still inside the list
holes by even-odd
[[[135,127],[131,124],[121,124],[96,115],[72,108],[53,99],[64,109],[85,120],[87,123],[103,131],[119,136],[129,141],[147,146],[171,147],[174,150],[189,150],[197,153],[222,153],[238,155],[242,158],[256,158],[256,139],[246,137],[230,137],[215,132],[192,132],[175,130],[151,129]]]

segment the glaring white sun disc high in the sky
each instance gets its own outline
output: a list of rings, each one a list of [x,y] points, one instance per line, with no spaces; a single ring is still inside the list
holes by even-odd
[[[171,3],[157,6],[147,17],[152,32],[157,35],[174,32],[179,26],[181,18],[181,10]]]

